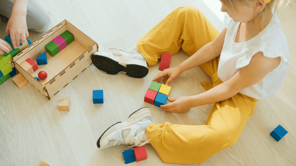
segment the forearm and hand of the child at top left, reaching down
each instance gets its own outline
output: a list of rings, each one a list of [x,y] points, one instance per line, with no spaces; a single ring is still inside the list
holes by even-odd
[[[13,2],[12,13],[7,22],[5,32],[10,34],[13,48],[19,48],[20,42],[24,43],[29,37],[26,16],[28,0],[15,0]],[[22,38],[22,40],[20,40]]]

